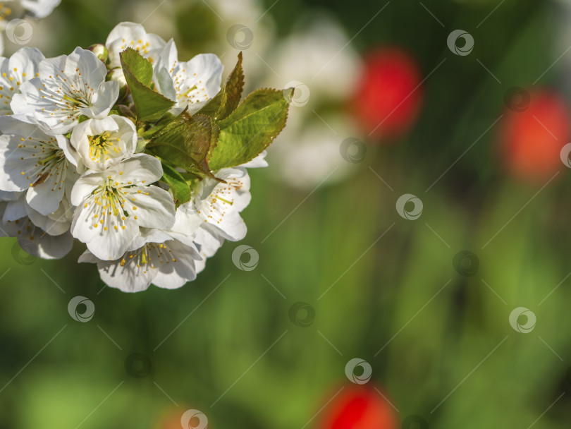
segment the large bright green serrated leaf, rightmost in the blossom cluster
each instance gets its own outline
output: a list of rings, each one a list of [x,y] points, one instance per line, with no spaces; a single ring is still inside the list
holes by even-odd
[[[209,167],[216,171],[257,157],[283,130],[292,95],[291,88],[264,88],[248,95],[228,118],[218,123],[220,136],[209,157]]]

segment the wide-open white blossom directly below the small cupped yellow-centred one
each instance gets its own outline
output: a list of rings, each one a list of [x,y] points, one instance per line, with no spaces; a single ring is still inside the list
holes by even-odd
[[[161,163],[137,154],[105,171],[87,171],[71,191],[71,234],[97,258],[119,258],[139,227],[169,229],[175,219],[171,195],[152,186],[163,174]]]

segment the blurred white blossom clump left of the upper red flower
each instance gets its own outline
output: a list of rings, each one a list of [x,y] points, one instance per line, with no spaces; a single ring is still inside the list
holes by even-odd
[[[268,73],[266,85],[283,87],[288,82],[281,76],[287,76],[305,85],[297,90],[305,92],[306,99],[300,106],[294,100],[288,126],[278,144],[272,145],[269,158],[276,164],[274,173],[288,186],[312,189],[321,181],[334,183],[355,171],[340,156],[340,145],[345,138],[360,136],[346,104],[362,64],[333,18],[309,16],[295,28],[276,44],[271,56],[276,73]]]

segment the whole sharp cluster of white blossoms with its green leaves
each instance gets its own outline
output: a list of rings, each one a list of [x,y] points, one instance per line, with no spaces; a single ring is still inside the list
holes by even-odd
[[[87,246],[79,262],[123,291],[195,279],[223,241],[244,238],[247,169],[266,167],[287,116],[286,102],[258,150],[262,130],[228,149],[252,115],[278,106],[255,93],[238,106],[241,58],[221,88],[214,54],[178,61],[173,40],[134,23],[69,55],[0,58],[0,234],[46,259],[75,238]]]

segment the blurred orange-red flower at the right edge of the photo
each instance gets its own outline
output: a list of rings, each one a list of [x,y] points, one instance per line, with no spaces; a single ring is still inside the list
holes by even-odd
[[[549,89],[520,88],[501,119],[499,150],[505,169],[520,179],[548,179],[563,167],[560,151],[570,137],[570,114],[563,97]]]

